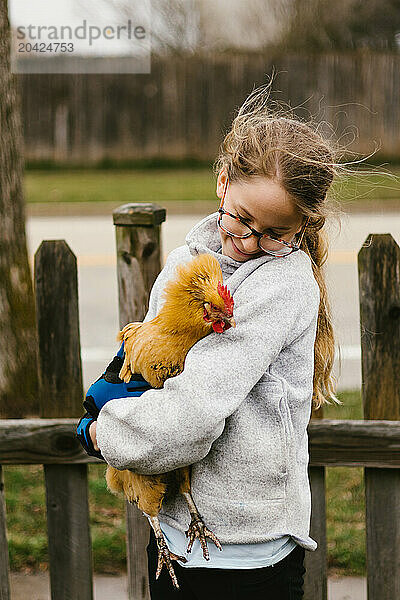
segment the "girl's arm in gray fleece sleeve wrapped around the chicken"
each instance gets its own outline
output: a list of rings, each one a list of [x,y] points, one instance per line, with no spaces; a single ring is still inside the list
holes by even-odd
[[[315,333],[319,287],[312,273],[288,269],[283,278],[280,269],[260,269],[246,283],[234,295],[236,328],[194,344],[183,372],[162,389],[101,409],[96,434],[107,463],[156,474],[201,460],[281,350],[308,328]]]

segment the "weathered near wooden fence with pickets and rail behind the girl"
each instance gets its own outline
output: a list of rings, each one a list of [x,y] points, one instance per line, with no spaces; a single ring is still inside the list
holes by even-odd
[[[165,209],[127,204],[116,226],[120,326],[142,320],[160,271]],[[312,418],[310,535],[305,600],[327,599],[325,468],[364,467],[368,600],[400,598],[400,249],[389,234],[367,238],[358,255],[365,420]],[[35,255],[40,349],[40,418],[0,420],[0,600],[10,599],[1,465],[43,464],[52,600],[92,600],[88,456],[76,436],[83,414],[76,258],[64,240]],[[51,357],[51,360],[50,360]],[[321,414],[320,411],[315,416]],[[130,600],[149,599],[147,519],[126,502]]]

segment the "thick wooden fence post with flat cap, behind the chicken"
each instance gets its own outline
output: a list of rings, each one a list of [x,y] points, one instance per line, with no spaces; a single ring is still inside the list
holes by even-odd
[[[165,208],[152,203],[124,204],[113,211],[121,329],[146,315],[150,290],[161,270],[165,217]],[[136,506],[129,502],[125,506],[129,600],[149,600],[146,546],[150,526]]]

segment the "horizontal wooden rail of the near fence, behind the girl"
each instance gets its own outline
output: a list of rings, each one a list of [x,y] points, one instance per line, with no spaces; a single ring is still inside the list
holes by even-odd
[[[102,464],[76,438],[76,419],[0,420],[0,464]],[[400,468],[400,421],[312,419],[310,468]]]

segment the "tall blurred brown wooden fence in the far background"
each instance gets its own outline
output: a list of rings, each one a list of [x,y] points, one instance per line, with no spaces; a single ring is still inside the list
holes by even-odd
[[[117,59],[119,60],[119,59]],[[400,53],[270,51],[153,56],[151,73],[19,74],[28,161],[213,161],[253,87],[363,154],[399,159]]]

